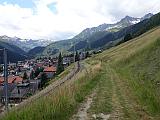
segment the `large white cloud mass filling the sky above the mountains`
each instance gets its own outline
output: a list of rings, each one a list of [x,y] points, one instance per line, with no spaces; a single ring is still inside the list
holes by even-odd
[[[55,3],[55,11],[48,5]],[[65,39],[86,27],[160,11],[159,0],[36,0],[35,8],[0,5],[0,35]]]

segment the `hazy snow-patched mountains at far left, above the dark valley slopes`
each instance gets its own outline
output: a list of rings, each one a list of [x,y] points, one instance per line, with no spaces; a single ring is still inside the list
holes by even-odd
[[[22,50],[28,52],[29,50],[38,47],[38,46],[47,46],[52,40],[32,40],[32,39],[21,39],[18,37],[8,37],[6,35],[0,36],[0,41],[8,42],[10,44],[13,44],[15,46],[18,46]]]

